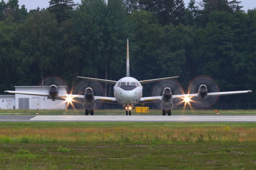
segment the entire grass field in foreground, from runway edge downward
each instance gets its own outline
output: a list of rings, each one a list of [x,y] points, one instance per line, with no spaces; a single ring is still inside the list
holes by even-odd
[[[255,123],[0,123],[0,169],[255,169]]]

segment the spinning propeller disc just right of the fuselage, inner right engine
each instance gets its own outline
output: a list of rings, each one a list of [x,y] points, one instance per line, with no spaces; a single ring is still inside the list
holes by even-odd
[[[171,92],[168,90],[168,88],[170,88]],[[163,92],[164,92],[164,95],[163,95]],[[164,98],[166,98],[166,100],[169,100],[172,95],[176,95],[176,94],[184,94],[184,91],[180,83],[175,80],[163,80],[161,82],[158,82],[153,86],[151,90],[151,96],[163,96]],[[182,98],[173,99],[172,100],[173,106],[171,110],[176,109],[178,106],[180,106],[181,101],[182,101]],[[154,104],[159,109],[163,109],[162,101],[154,100]]]

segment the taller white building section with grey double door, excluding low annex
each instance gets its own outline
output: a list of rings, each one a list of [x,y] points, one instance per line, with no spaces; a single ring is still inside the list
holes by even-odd
[[[66,86],[57,86],[59,94],[66,94]],[[46,92],[49,86],[16,86],[16,91],[23,92]],[[16,109],[65,109],[66,102],[63,100],[52,101],[43,96],[32,96],[24,94],[15,95]]]

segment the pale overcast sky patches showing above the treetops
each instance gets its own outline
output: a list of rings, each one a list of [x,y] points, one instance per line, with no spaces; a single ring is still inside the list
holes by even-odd
[[[5,0],[7,2],[7,0]],[[47,8],[49,6],[50,0],[19,0],[20,6],[24,4],[26,8],[29,10],[36,9],[38,6],[40,8]],[[196,0],[197,2],[200,2],[200,0]],[[240,0],[242,1],[241,6],[244,6],[243,10],[247,12],[248,9],[253,9],[256,7],[256,0]],[[81,0],[74,0],[74,2],[80,3]],[[189,0],[184,0],[184,2],[187,4]]]

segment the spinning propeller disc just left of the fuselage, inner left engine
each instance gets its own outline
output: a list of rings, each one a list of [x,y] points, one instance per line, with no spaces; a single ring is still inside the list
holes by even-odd
[[[92,90],[94,92],[94,96],[104,96],[103,86],[99,82],[96,82],[93,80],[82,80],[75,86],[73,93],[77,94],[77,95],[87,95],[86,97],[89,98],[90,95],[92,95],[92,94],[90,94],[89,92],[87,92],[85,94],[86,88],[92,88]],[[91,97],[93,97],[93,96],[91,96]],[[82,100],[76,100],[77,106],[80,107],[81,109],[84,109],[83,103],[84,102]],[[95,102],[94,109],[97,109],[101,105],[102,105],[102,101]]]

